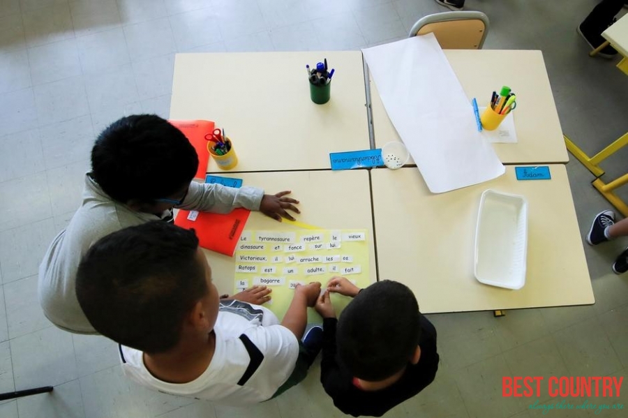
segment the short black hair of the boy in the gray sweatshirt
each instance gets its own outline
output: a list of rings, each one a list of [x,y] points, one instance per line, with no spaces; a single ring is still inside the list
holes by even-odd
[[[118,119],[91,149],[91,176],[123,203],[173,195],[192,181],[197,168],[198,156],[186,135],[156,114]]]

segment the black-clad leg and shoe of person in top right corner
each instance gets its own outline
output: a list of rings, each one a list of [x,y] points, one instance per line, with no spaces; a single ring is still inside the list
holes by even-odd
[[[625,0],[601,0],[591,13],[578,25],[576,30],[587,41],[592,50],[604,43],[601,33],[613,24],[615,15],[624,6]],[[617,55],[615,48],[608,45],[597,53],[600,57],[613,58]]]

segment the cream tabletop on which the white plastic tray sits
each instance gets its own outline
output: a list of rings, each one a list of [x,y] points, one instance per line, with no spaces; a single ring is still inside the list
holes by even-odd
[[[371,170],[380,280],[408,285],[421,312],[484,311],[593,304],[595,299],[565,165],[551,180],[518,181],[506,174],[449,193],[428,191],[419,170]],[[486,189],[528,199],[528,263],[520,290],[474,277],[474,234]]]

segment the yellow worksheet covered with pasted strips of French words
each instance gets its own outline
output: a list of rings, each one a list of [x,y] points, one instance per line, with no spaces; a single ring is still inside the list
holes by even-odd
[[[371,284],[368,276],[366,230],[244,231],[236,247],[234,292],[253,285],[272,289],[264,304],[281,320],[301,283],[318,281],[322,289],[330,278],[344,276],[359,288]],[[352,298],[331,294],[336,315]],[[308,323],[322,322],[313,308]]]

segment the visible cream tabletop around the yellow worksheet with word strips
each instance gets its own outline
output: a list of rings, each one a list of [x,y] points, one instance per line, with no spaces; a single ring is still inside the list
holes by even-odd
[[[326,230],[367,230],[369,273],[371,282],[377,280],[375,246],[373,244],[373,215],[371,193],[366,170],[352,171],[297,171],[221,174],[244,180],[244,185],[264,188],[266,193],[290,190],[290,196],[299,200],[301,211],[297,221]],[[245,230],[296,230],[297,227],[279,223],[254,211]],[[214,283],[220,293],[232,293],[235,260],[233,257],[204,251],[211,266]],[[329,276],[331,278],[331,276]]]

